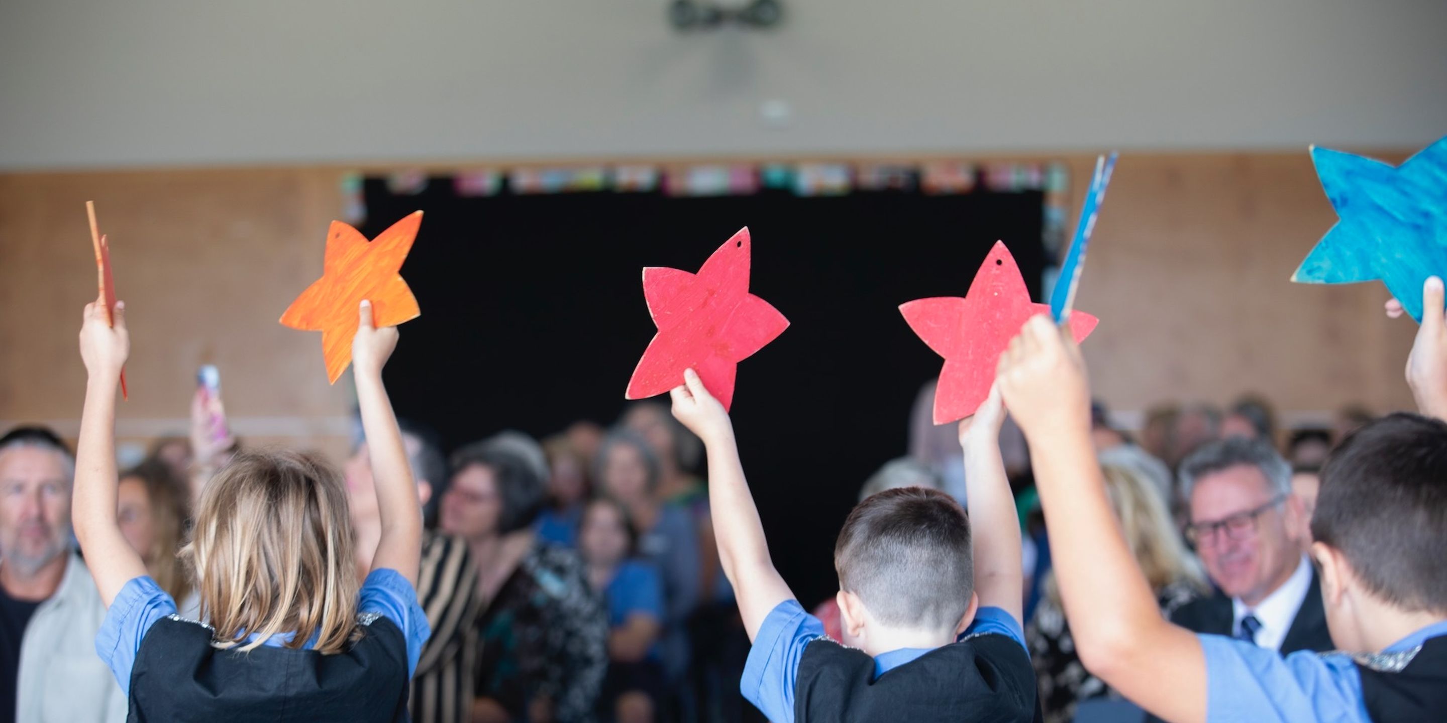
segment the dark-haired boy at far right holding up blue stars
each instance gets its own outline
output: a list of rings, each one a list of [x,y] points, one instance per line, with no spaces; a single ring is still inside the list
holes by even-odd
[[[1341,651],[1276,651],[1160,617],[1121,539],[1090,437],[1069,334],[1026,322],[1001,356],[1006,406],[1030,441],[1055,574],[1081,662],[1171,722],[1422,722],[1447,717],[1447,320],[1424,288],[1406,380],[1422,415],[1349,435],[1321,471],[1311,555]],[[1223,522],[1224,523],[1224,522]]]

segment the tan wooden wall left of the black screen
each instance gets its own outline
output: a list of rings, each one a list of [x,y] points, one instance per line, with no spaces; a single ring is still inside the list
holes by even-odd
[[[184,432],[195,369],[214,363],[243,435],[346,448],[350,392],[327,386],[320,335],[276,322],[321,272],[340,208],[331,171],[0,175],[0,419],[78,425],[75,335],[96,298],[87,200],[130,325],[122,435]]]

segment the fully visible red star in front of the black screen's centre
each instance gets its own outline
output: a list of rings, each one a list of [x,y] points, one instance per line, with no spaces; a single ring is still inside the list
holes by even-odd
[[[748,292],[748,228],[719,246],[697,275],[648,266],[642,294],[658,333],[648,343],[627,399],[661,395],[683,383],[693,367],[709,393],[728,409],[737,364],[789,327],[767,301]]]

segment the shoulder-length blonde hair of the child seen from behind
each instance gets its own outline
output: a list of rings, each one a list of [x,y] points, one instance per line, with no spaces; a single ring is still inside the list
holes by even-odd
[[[217,648],[250,651],[272,635],[287,648],[313,635],[321,654],[357,632],[352,518],[341,474],[291,451],[243,451],[201,493],[191,542],[201,616]]]

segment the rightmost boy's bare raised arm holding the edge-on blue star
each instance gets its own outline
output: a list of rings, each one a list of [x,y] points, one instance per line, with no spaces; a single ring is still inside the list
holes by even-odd
[[[1160,616],[1116,522],[1090,438],[1085,362],[1069,333],[1032,317],[1000,357],[997,385],[1030,442],[1055,580],[1081,662],[1166,720],[1205,720],[1205,654]]]

